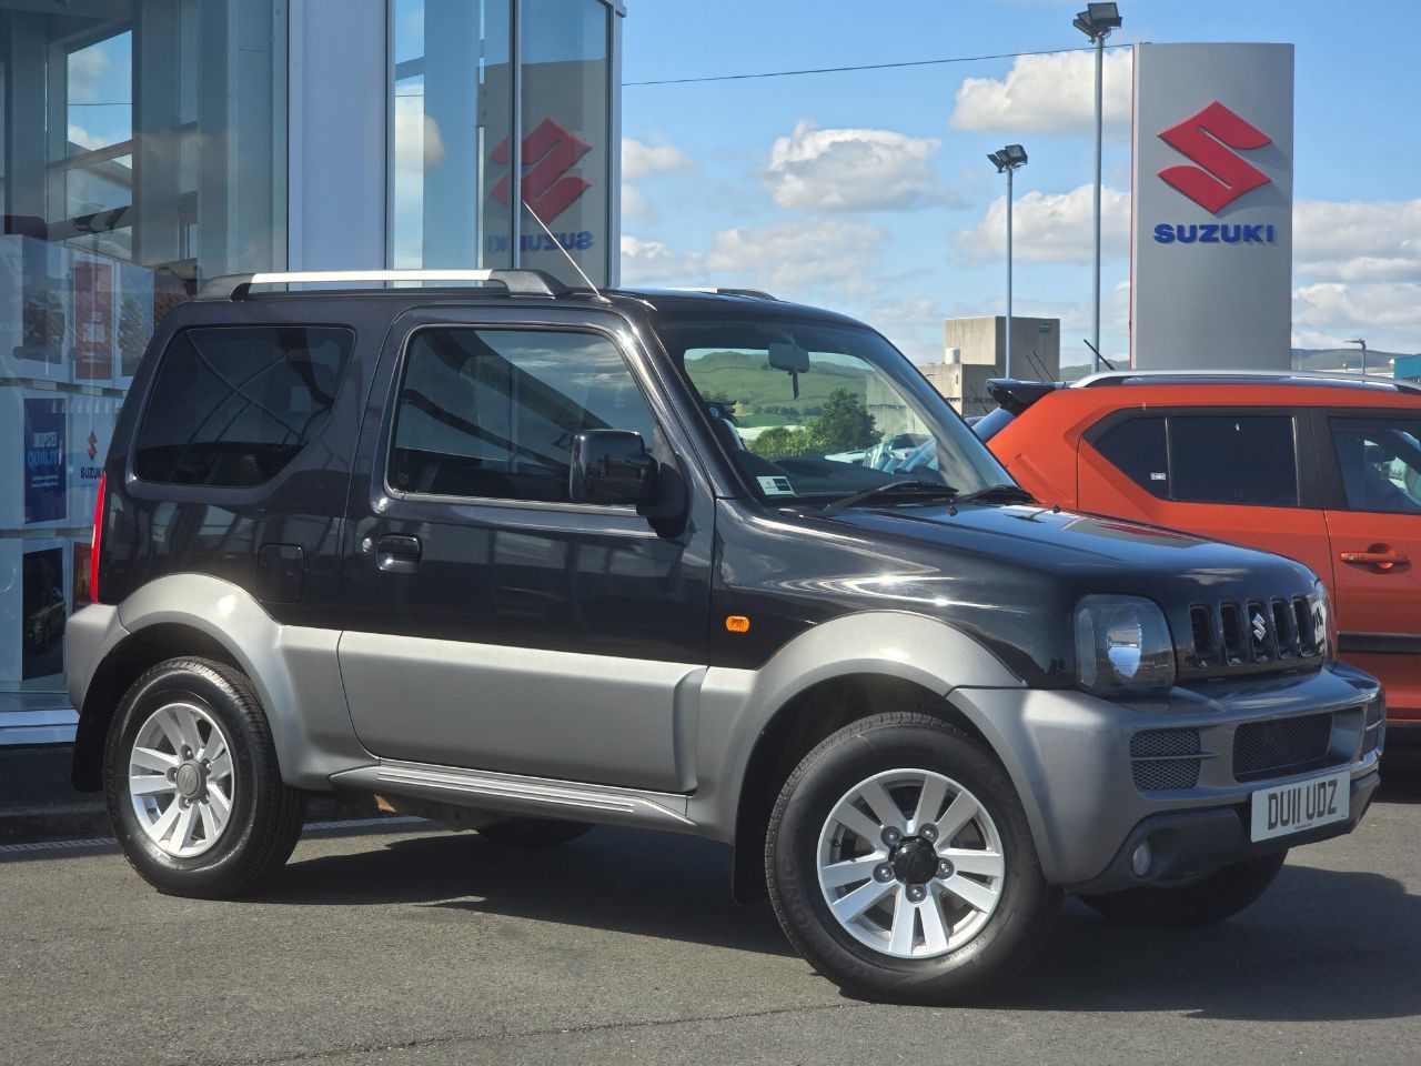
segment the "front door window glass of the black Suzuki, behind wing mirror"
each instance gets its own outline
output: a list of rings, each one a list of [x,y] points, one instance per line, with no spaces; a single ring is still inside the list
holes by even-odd
[[[597,334],[425,328],[399,387],[389,485],[438,496],[566,503],[573,436],[654,421],[617,347]]]

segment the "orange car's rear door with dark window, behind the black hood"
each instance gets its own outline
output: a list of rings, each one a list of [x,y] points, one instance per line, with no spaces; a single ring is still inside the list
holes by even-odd
[[[1312,455],[1292,408],[1118,411],[1083,436],[1080,506],[1276,551],[1330,581]]]

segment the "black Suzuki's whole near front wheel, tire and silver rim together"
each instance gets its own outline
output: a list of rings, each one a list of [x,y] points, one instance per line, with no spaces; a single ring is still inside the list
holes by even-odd
[[[941,790],[941,813],[931,823],[917,817],[929,787],[929,795]],[[865,790],[884,814],[865,814]],[[890,846],[880,830],[895,817],[894,807],[891,829],[901,839]],[[949,820],[961,824],[949,827]],[[932,829],[919,830],[919,823]],[[951,844],[956,847],[944,867],[939,849]],[[853,873],[847,866],[823,871],[840,863],[854,863]],[[955,863],[973,870],[952,868]],[[1042,876],[1006,770],[966,733],[922,714],[874,715],[811,750],[770,814],[764,867],[770,901],[794,948],[845,992],[901,1003],[986,995],[1042,947],[1061,901]],[[880,893],[878,903],[858,910]],[[855,903],[845,910],[850,895]],[[830,898],[845,920],[836,917]],[[899,905],[909,908],[904,921],[895,918]]]

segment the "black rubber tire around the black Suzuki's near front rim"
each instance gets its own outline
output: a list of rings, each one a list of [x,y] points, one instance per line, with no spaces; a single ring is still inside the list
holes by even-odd
[[[1000,837],[1006,876],[996,907],[972,940],[946,954],[905,958],[865,945],[833,915],[820,888],[818,839],[836,804],[874,775],[894,770],[928,770],[966,789]],[[1030,961],[1061,901],[1042,876],[1006,770],[963,732],[922,714],[865,718],[810,752],[774,804],[764,866],[774,912],[794,948],[844,991],[902,1003],[986,995]]]

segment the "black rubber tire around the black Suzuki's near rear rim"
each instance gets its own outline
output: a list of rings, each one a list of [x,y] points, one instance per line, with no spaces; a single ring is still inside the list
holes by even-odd
[[[209,850],[193,857],[165,851],[145,831],[128,789],[129,755],[158,709],[188,702],[220,723],[236,772],[232,812]],[[128,861],[161,893],[195,898],[240,895],[281,868],[301,836],[306,793],[281,780],[276,746],[252,682],[205,658],[161,662],[124,695],[104,750],[104,793],[114,833]],[[178,802],[173,799],[173,802]]]

